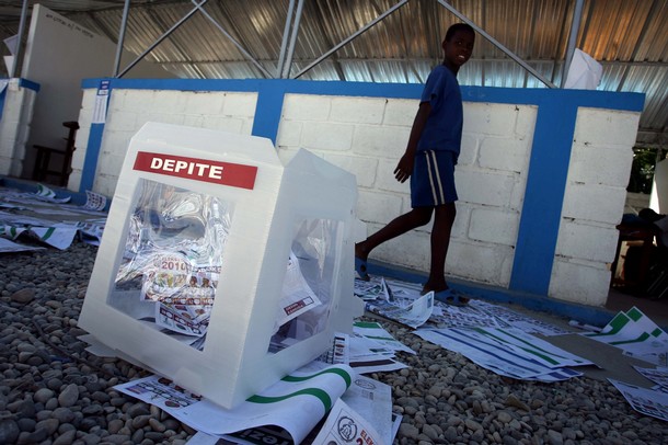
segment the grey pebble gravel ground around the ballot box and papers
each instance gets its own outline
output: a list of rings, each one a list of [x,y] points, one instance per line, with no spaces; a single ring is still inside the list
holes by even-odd
[[[0,444],[184,444],[195,432],[113,389],[147,373],[84,351],[77,328],[96,248],[0,255]],[[395,444],[666,444],[668,423],[610,384],[503,378],[383,322],[417,351],[375,374],[403,415]]]

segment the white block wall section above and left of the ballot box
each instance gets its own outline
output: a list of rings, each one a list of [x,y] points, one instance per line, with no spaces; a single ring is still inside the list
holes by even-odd
[[[96,90],[85,90],[68,189],[79,190],[87,159]],[[111,94],[93,190],[113,196],[130,138],[147,122],[250,135],[255,92],[116,90]]]

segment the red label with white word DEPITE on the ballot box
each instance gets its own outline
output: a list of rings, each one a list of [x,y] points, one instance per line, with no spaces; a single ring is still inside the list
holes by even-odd
[[[134,170],[252,190],[257,167],[138,151]]]

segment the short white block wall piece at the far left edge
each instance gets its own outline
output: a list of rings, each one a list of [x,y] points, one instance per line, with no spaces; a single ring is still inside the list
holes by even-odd
[[[0,174],[19,178],[23,172],[25,145],[38,90],[36,83],[9,79],[0,119]]]

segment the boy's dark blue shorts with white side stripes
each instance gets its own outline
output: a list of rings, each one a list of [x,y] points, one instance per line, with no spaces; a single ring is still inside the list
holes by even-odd
[[[457,201],[452,151],[418,151],[411,175],[411,206],[434,207]]]

